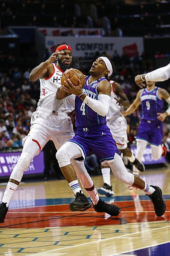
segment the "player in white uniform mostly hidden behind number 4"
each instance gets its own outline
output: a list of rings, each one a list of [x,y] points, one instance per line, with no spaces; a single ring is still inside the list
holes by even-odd
[[[127,121],[122,112],[125,108],[130,106],[129,99],[125,94],[120,83],[110,80],[112,86],[111,102],[109,111],[106,115],[107,125],[109,126],[112,136],[116,141],[117,148],[124,156],[128,157],[128,160],[136,166],[139,171],[144,171],[145,166],[140,162],[131,149],[128,147],[128,135],[127,135]],[[102,176],[104,184],[97,188],[98,193],[105,194],[106,196],[112,196],[114,194],[110,180],[110,168],[102,167]]]

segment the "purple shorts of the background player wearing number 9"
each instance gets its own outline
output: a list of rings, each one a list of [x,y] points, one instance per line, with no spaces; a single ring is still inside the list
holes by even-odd
[[[137,139],[147,140],[153,145],[160,145],[163,139],[164,124],[160,120],[141,120],[138,127]]]

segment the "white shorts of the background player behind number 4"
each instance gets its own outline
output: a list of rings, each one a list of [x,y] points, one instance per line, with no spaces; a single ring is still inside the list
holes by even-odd
[[[126,118],[121,115],[117,119],[107,120],[112,136],[116,141],[118,149],[125,149],[128,146],[128,135],[127,135],[127,121]]]

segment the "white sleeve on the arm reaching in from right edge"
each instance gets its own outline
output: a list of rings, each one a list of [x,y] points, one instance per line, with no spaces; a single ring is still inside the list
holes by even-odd
[[[170,78],[170,63],[145,75],[147,81],[165,81]]]

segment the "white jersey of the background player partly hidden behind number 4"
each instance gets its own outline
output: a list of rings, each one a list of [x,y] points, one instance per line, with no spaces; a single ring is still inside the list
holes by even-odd
[[[109,111],[106,115],[106,119],[107,121],[112,119],[115,120],[117,119],[120,115],[122,116],[122,112],[124,110],[124,106],[120,106],[117,102],[116,98],[119,98],[119,96],[114,92],[114,84],[115,81],[110,80],[109,81],[111,86],[112,86],[112,91],[111,91],[111,102],[110,102],[110,107],[109,107]]]

